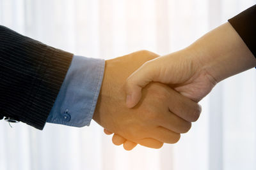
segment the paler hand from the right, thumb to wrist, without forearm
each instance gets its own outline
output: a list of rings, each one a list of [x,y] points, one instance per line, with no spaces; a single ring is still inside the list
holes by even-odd
[[[200,62],[195,62],[195,55],[193,49],[185,48],[145,62],[127,78],[127,107],[136,106],[141,98],[141,89],[151,81],[167,84],[189,99],[200,101],[217,82]]]

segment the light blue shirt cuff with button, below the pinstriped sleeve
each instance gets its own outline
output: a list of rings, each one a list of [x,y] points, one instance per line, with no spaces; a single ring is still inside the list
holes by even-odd
[[[47,122],[90,125],[99,97],[105,61],[74,55]]]

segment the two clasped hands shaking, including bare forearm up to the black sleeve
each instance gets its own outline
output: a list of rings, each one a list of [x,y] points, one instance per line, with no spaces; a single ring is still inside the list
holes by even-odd
[[[228,22],[179,52],[140,51],[106,61],[93,119],[115,145],[176,143],[200,116],[197,103],[216,83],[256,66]]]

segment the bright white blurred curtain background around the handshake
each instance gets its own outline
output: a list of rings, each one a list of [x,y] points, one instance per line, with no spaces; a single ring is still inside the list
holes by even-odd
[[[47,45],[110,59],[190,45],[256,0],[0,0],[0,24]],[[256,16],[255,16],[256,17]],[[221,82],[179,143],[160,150],[114,146],[92,121],[75,128],[0,122],[1,170],[256,169],[256,70]]]

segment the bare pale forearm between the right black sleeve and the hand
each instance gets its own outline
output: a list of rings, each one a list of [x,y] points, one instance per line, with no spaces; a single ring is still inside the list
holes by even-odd
[[[198,39],[188,50],[217,82],[256,66],[252,52],[228,22]]]

